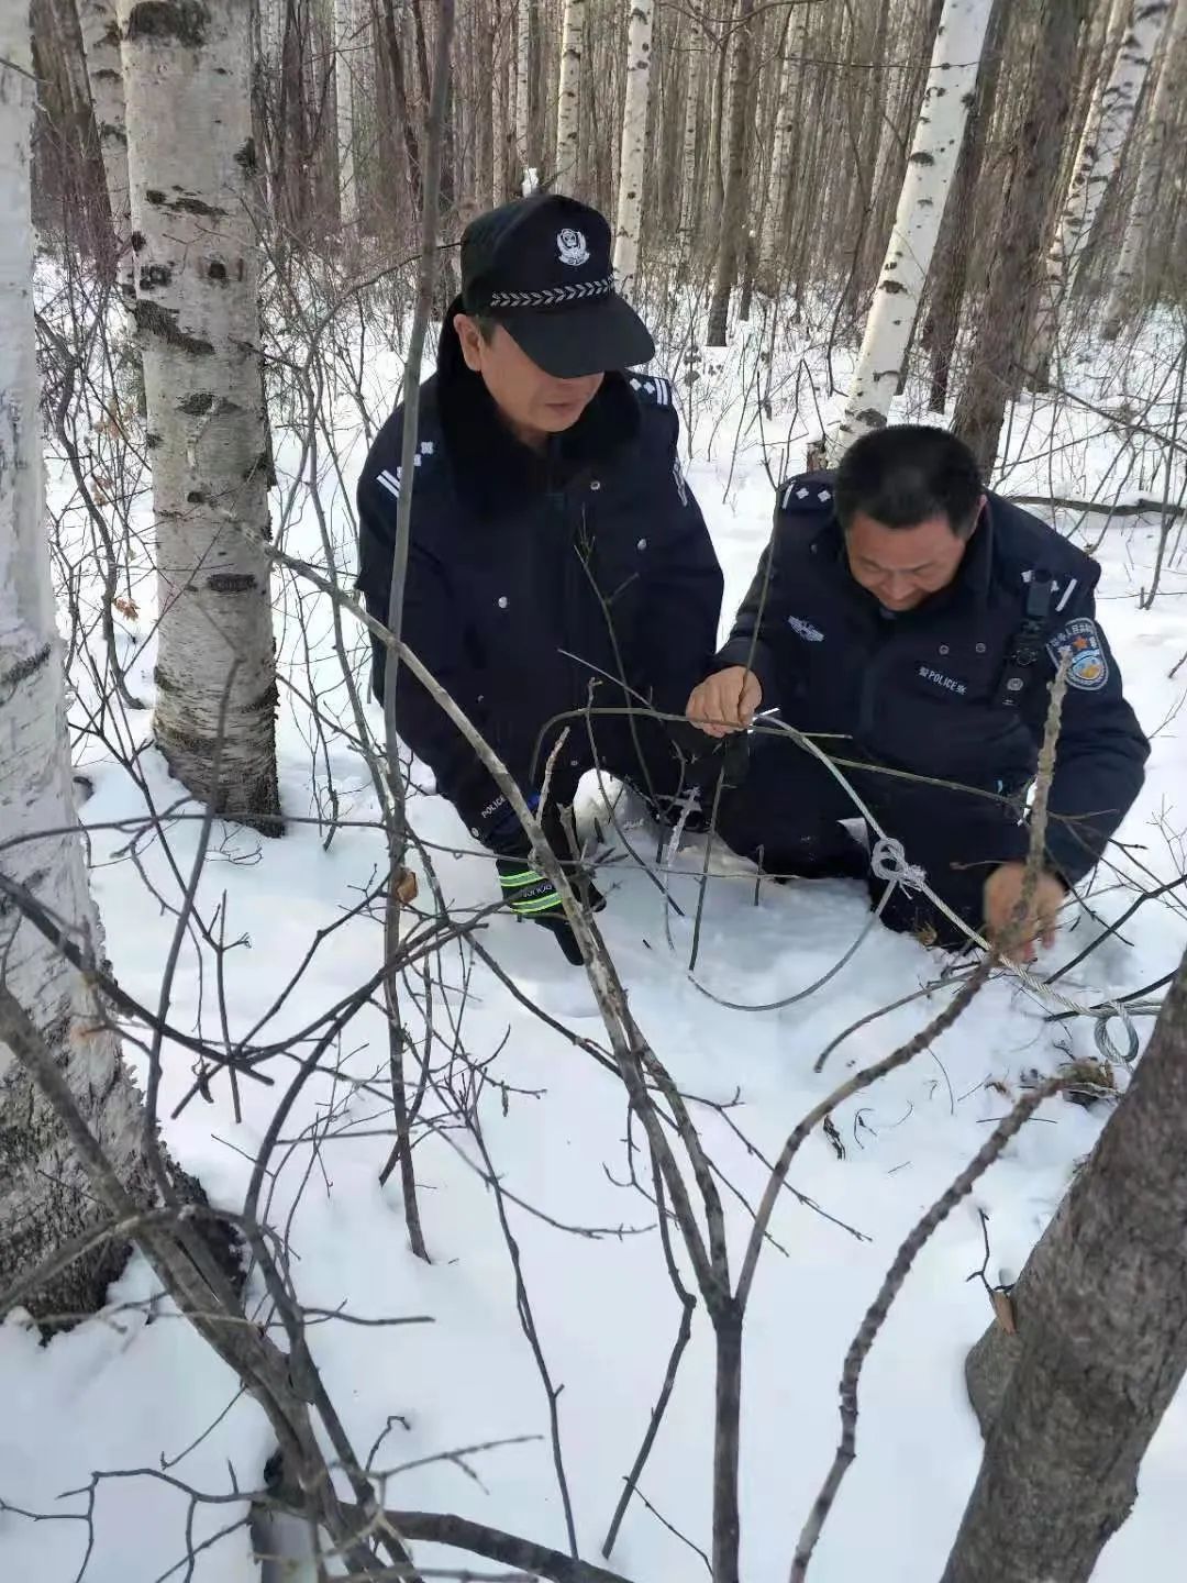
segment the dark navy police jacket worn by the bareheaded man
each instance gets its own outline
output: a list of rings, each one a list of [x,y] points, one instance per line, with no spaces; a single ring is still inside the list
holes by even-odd
[[[1095,625],[1100,567],[1029,511],[989,495],[956,579],[918,609],[888,617],[848,571],[831,473],[782,488],[772,548],[717,665],[749,665],[763,708],[779,706],[807,733],[850,736],[850,750],[870,761],[984,792],[1024,787],[1056,657],[1071,649],[1048,855],[1067,880],[1081,879],[1133,803],[1149,752]],[[1011,668],[1026,685],[1008,708],[1003,678],[1035,576],[1051,579],[1048,613],[1033,663]],[[1024,856],[1026,842],[1018,828],[1014,850],[1002,856]]]

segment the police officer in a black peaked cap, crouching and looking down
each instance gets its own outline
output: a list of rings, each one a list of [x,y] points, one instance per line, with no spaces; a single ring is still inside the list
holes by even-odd
[[[655,347],[614,291],[609,226],[535,195],[473,220],[461,263],[462,294],[419,394],[404,640],[529,801],[565,727],[551,809],[595,765],[652,799],[674,796],[684,757],[649,706],[682,714],[712,662],[722,573],[681,472],[671,386],[624,372]],[[397,503],[413,483],[402,431],[397,407],[358,488],[359,587],[385,622]],[[385,654],[375,644],[380,698]],[[396,725],[497,856],[510,907],[579,961],[514,812],[407,666]],[[552,844],[565,858],[556,823]]]

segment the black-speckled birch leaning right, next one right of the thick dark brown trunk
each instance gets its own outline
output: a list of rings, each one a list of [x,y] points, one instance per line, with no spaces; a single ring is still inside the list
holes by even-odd
[[[1071,184],[1046,258],[1035,313],[1032,359],[1033,380],[1038,388],[1048,385],[1059,310],[1076,283],[1076,272],[1092,233],[1092,223],[1125,147],[1133,112],[1138,108],[1138,98],[1168,11],[1168,0],[1130,0],[1128,22],[1108,82],[1100,95],[1100,111],[1090,114],[1084,125]]]

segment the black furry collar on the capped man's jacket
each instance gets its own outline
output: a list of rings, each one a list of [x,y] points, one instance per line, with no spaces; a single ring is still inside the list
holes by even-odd
[[[606,374],[578,423],[556,437],[546,456],[519,440],[503,423],[478,374],[465,366],[453,328],[461,298],[449,306],[437,355],[437,413],[462,499],[483,518],[508,514],[567,483],[584,469],[605,467],[639,432],[639,404],[622,374]]]

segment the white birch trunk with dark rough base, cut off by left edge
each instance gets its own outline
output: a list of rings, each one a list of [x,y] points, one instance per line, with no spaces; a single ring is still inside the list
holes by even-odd
[[[41,499],[28,136],[35,82],[27,13],[0,8],[0,871],[101,956],[73,803],[62,643]],[[81,972],[0,896],[0,981],[46,1038],[82,1116],[136,1198],[147,1195],[139,1097]],[[0,1042],[0,1290],[101,1220],[49,1107]],[[41,1293],[85,1312],[119,1273],[104,1244]]]

